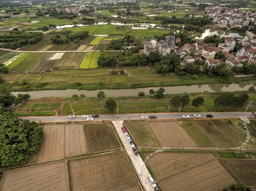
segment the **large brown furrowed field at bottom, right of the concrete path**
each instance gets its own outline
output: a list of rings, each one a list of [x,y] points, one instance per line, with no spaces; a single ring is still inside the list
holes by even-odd
[[[213,154],[158,153],[148,160],[162,190],[222,190],[235,179]]]

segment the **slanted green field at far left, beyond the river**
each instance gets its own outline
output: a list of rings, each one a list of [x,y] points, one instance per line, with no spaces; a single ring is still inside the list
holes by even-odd
[[[11,71],[22,71],[26,72],[34,64],[36,64],[46,53],[26,53],[30,54],[27,58],[23,59],[17,66],[12,68]],[[19,60],[17,60],[18,62]]]

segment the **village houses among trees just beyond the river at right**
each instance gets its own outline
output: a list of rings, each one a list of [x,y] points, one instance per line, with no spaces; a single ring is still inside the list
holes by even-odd
[[[236,38],[236,40],[235,40]],[[223,44],[218,47],[214,43],[196,42],[195,44],[185,44],[183,47],[175,47],[175,43],[180,42],[180,38],[174,36],[166,36],[165,40],[156,40],[155,38],[144,42],[144,48],[141,53],[149,55],[151,51],[158,51],[165,56],[171,52],[184,59],[184,62],[193,63],[195,60],[205,60],[210,67],[214,67],[222,62],[227,63],[229,67],[237,66],[242,67],[241,62],[256,63],[256,35],[250,40],[250,44],[243,46],[237,53],[233,53],[236,43],[242,42],[240,37],[226,38]],[[193,55],[191,53],[193,51]],[[221,52],[224,54],[223,59],[214,59],[216,53]],[[231,53],[230,53],[231,52]]]

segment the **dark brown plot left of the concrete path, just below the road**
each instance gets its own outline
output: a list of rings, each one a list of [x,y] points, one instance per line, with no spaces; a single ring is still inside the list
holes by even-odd
[[[111,123],[85,124],[84,128],[89,153],[121,147]]]

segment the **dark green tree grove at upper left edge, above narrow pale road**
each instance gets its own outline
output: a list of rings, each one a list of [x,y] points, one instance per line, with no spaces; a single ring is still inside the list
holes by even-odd
[[[0,36],[0,42],[5,42],[0,48],[17,49],[27,44],[37,44],[42,39],[42,32],[11,31],[10,34]]]

